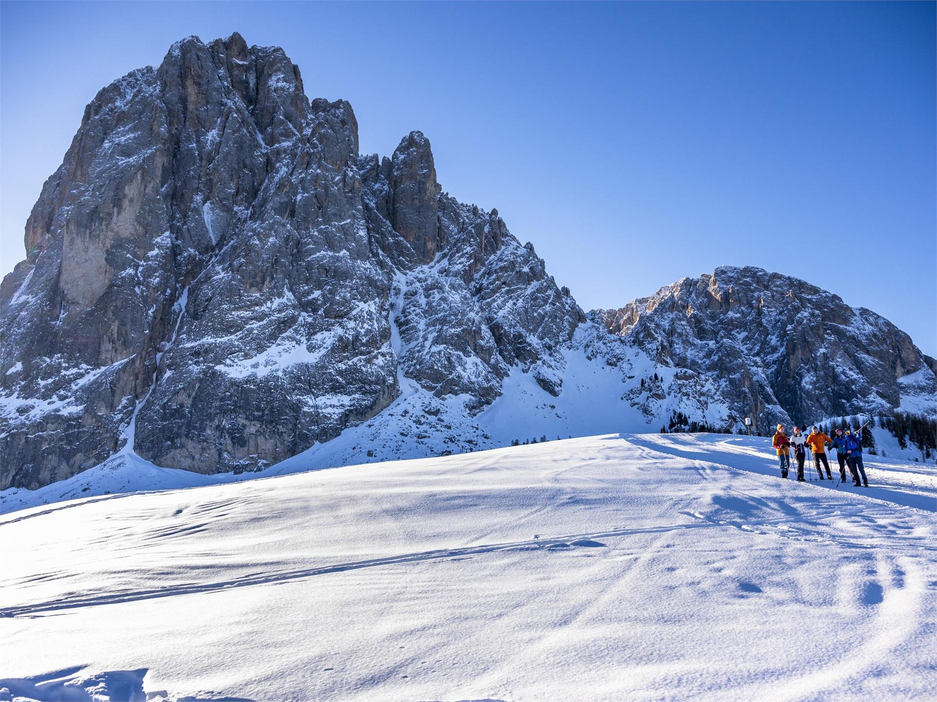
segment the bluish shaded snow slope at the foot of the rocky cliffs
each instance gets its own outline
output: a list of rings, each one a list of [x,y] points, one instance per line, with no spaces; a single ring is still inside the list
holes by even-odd
[[[699,416],[714,425],[724,420],[725,406],[706,399],[715,395],[710,381],[693,375],[679,377],[678,369],[657,366],[642,351],[591,324],[582,325],[573,342],[571,348],[556,354],[563,367],[564,389],[559,396],[546,392],[534,374],[514,367],[504,379],[503,394],[482,412],[473,413],[474,396],[435,396],[398,370],[401,394],[379,416],[275,466],[245,473],[204,475],[156,466],[132,450],[131,426],[121,452],[90,470],[37,490],[12,487],[0,491],[0,514],[82,497],[461,454],[509,445],[514,439],[523,442],[540,441],[543,436],[557,440],[596,432],[653,431],[660,426],[659,418],[671,411]],[[404,352],[397,334],[392,335],[391,343],[394,352]],[[659,381],[641,387],[641,379],[649,379],[654,372]]]

